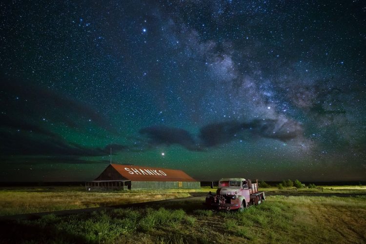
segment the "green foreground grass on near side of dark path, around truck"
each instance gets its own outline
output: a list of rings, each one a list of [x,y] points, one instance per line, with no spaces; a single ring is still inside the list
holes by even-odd
[[[358,193],[362,190],[358,188]],[[147,193],[131,194],[145,198]],[[268,196],[263,204],[242,213],[203,210],[203,201],[204,197],[196,197],[3,221],[0,243],[366,243],[365,195]]]

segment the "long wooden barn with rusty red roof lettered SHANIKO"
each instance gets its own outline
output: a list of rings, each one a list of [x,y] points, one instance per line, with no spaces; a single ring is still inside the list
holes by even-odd
[[[88,190],[199,188],[200,182],[182,170],[109,164],[94,181],[86,182],[85,187]]]

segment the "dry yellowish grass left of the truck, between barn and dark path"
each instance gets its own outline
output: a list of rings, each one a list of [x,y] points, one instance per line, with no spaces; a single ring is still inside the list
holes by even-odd
[[[83,187],[38,187],[0,190],[0,215],[49,212],[142,203],[190,196],[187,191],[87,192]]]

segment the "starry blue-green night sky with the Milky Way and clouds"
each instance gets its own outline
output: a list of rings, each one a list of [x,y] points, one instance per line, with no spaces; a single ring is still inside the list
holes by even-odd
[[[1,1],[0,82],[0,181],[366,179],[363,0]]]

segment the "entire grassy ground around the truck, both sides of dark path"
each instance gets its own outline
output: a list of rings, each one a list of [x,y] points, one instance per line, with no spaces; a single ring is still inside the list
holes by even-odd
[[[274,187],[263,190],[294,191]],[[331,192],[364,195],[301,195]],[[0,222],[4,226],[0,229],[0,243],[366,243],[366,187],[323,186],[323,191],[304,188],[298,189],[298,193],[299,196],[267,196],[263,204],[243,212],[206,210],[204,197],[200,197],[148,203],[148,207],[142,208],[116,208],[70,216],[50,214],[36,220]],[[188,190],[2,189],[0,212],[118,205],[185,195],[189,195]]]

